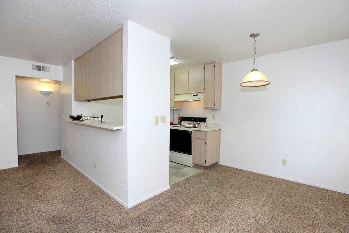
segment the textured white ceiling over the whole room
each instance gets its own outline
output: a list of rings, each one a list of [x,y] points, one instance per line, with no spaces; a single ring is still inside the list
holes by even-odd
[[[177,69],[349,38],[348,0],[0,0],[0,55],[52,65],[131,20],[171,38]],[[139,54],[146,57],[147,54]]]

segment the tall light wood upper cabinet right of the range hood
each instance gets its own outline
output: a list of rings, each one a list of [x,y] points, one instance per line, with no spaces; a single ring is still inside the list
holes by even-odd
[[[222,103],[222,65],[210,63],[205,65],[204,108],[220,109]]]

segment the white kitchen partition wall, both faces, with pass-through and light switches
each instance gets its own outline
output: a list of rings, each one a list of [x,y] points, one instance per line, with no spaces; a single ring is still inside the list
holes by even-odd
[[[147,59],[140,60],[143,53],[148,54]],[[122,101],[124,130],[103,130],[62,119],[62,158],[125,207],[169,189],[168,121],[154,124],[154,116],[170,118],[168,98],[164,98],[170,95],[170,81],[166,78],[170,73],[169,57],[170,39],[127,21],[123,99],[118,100]],[[73,62],[64,66],[62,111],[66,116],[68,112],[80,114],[88,110],[99,114],[93,105],[96,102],[73,101],[73,66]],[[114,108],[119,111],[120,105]],[[107,109],[101,112],[104,110]]]

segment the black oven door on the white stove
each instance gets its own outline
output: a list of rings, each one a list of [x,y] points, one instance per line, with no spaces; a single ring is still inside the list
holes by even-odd
[[[192,154],[192,131],[170,129],[170,151]]]

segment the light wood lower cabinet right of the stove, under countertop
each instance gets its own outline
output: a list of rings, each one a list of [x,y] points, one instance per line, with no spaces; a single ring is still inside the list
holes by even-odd
[[[221,130],[193,130],[193,163],[209,166],[220,160]]]

